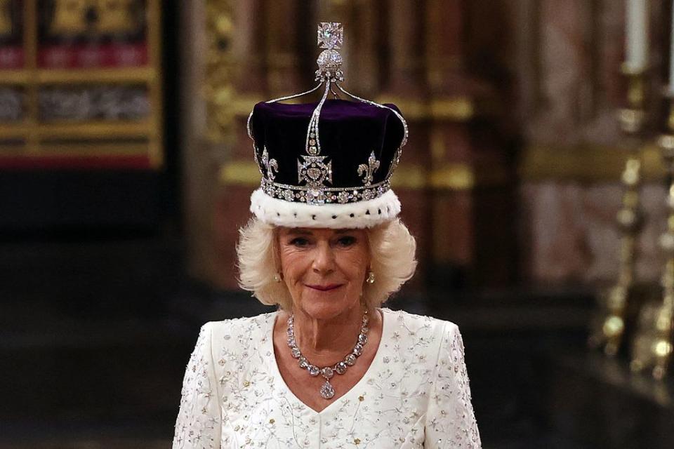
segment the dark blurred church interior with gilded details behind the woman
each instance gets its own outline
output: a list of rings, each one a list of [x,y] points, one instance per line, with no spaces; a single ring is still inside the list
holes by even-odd
[[[633,3],[0,0],[0,448],[170,447],[199,326],[267,310],[234,267],[245,123],[313,86],[320,21],[409,122],[420,264],[389,307],[461,327],[484,448],[673,447],[673,376],[630,350],[668,304],[672,6],[636,0],[626,76]]]

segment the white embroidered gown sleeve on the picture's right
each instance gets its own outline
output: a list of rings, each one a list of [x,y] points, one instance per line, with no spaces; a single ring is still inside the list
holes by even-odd
[[[482,447],[473,404],[470,403],[463,340],[453,323],[444,324],[424,430],[424,448]]]

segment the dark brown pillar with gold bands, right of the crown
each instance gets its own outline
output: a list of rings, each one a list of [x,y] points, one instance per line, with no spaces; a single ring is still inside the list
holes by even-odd
[[[506,29],[508,22],[484,14],[484,8],[491,8],[495,19],[498,2],[428,0],[426,6],[432,210],[428,282],[436,288],[508,283],[513,278],[514,171],[497,129],[501,119],[483,106],[498,101],[497,91],[491,80],[473,75],[466,54],[468,43],[491,43],[494,54],[501,49],[491,42],[494,32],[475,21],[469,27],[471,20]],[[469,29],[477,31],[468,35]]]

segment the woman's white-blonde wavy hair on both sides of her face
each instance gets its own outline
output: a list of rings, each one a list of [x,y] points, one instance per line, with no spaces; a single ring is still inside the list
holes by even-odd
[[[280,271],[275,229],[255,217],[239,229],[239,286],[253,292],[263,304],[289,310],[293,302],[288,288],[275,279]],[[365,231],[375,281],[364,283],[363,299],[369,309],[375,309],[414,274],[416,241],[399,219]]]

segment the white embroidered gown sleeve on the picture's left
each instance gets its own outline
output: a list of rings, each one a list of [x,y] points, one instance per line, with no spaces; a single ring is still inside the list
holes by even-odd
[[[211,351],[211,323],[199,331],[187,363],[173,449],[220,448],[220,406]]]

